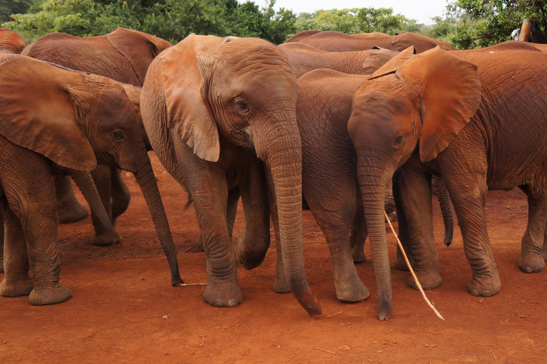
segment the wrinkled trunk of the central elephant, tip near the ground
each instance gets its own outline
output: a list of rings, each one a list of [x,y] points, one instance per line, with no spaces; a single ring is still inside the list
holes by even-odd
[[[310,316],[321,314],[304,272],[302,246],[302,146],[296,117],[269,124],[257,155],[271,171],[278,210],[283,270],[293,295]]]

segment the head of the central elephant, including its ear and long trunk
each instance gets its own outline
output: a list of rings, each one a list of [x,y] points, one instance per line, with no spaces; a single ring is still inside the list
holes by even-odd
[[[155,88],[160,91],[152,93]],[[303,267],[298,93],[285,56],[271,43],[191,35],[150,65],[142,117],[155,150],[166,145],[155,131],[170,129],[205,161],[219,161],[226,146],[256,151],[273,177],[288,284],[313,315],[321,307]],[[165,95],[160,124],[154,122],[157,110],[150,101],[157,100],[155,95]]]

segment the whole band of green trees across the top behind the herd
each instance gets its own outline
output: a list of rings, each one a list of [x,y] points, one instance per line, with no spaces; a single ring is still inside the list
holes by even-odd
[[[28,41],[51,32],[97,36],[117,26],[137,29],[177,43],[190,33],[253,36],[283,43],[299,31],[343,33],[412,31],[438,38],[457,48],[484,47],[506,41],[533,16],[547,30],[547,2],[536,0],[456,0],[431,26],[392,9],[354,8],[294,14],[237,0],[0,0],[3,26]]]

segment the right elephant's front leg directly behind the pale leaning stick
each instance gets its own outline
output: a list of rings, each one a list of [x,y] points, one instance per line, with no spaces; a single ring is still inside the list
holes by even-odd
[[[441,285],[437,245],[433,235],[433,211],[431,203],[431,176],[404,165],[397,171],[393,186],[400,240],[413,260],[413,267],[424,289]],[[397,254],[396,267],[406,266]],[[411,260],[411,262],[412,262]],[[403,264],[404,263],[404,264]],[[408,285],[417,289],[414,280]]]

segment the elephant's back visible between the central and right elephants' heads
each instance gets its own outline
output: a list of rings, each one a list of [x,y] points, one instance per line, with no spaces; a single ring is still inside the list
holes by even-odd
[[[363,73],[363,63],[368,56],[374,54],[374,61],[368,62],[368,69],[364,74],[380,68],[388,60],[399,54],[394,50],[358,50],[354,52],[327,52],[319,50],[305,43],[283,43],[278,45],[287,56],[288,63],[291,65],[296,77],[302,77],[311,70],[318,68],[328,68],[341,73],[350,75],[361,75]],[[372,72],[370,72],[372,73]]]

